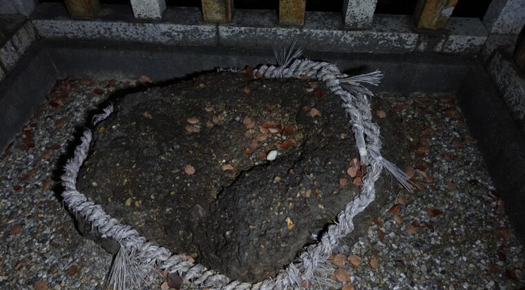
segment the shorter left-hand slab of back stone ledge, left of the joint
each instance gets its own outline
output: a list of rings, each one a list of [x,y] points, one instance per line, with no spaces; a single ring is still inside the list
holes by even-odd
[[[104,6],[93,20],[70,19],[64,7],[41,4],[32,15],[45,38],[166,43],[185,46],[216,45],[216,26],[202,22],[198,8],[169,10],[160,23],[137,21],[125,6]]]

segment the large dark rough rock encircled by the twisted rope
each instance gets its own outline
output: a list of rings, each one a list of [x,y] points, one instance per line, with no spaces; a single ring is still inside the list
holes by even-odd
[[[263,280],[315,242],[312,233],[359,193],[347,175],[357,153],[340,103],[312,80],[229,72],[134,93],[97,127],[78,188],[175,253],[231,278]],[[376,121],[383,155],[403,165],[395,158],[408,155],[395,129],[402,124],[393,114]],[[278,157],[267,161],[271,150]],[[345,244],[397,189],[383,174],[376,202]],[[81,231],[101,240],[88,228],[79,220]]]

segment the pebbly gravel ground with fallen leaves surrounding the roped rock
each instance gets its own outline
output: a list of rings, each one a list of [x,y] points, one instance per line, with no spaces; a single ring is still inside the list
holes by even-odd
[[[128,81],[59,81],[1,155],[0,289],[104,288],[112,257],[77,233],[55,195],[54,178],[88,112],[126,86]],[[406,173],[420,189],[399,189],[370,222],[367,236],[334,253],[332,278],[345,290],[524,287],[523,246],[455,99],[382,97],[391,105],[374,114],[403,118],[413,144]],[[168,289],[161,283],[162,277],[151,289]]]

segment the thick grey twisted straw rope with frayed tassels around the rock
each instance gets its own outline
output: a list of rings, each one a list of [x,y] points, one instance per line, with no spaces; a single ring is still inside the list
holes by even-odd
[[[289,57],[295,58],[298,54],[297,52],[290,53]],[[372,122],[370,103],[367,100],[367,95],[372,96],[372,93],[361,85],[361,83],[378,84],[381,73],[372,72],[367,75],[349,77],[341,73],[334,64],[309,59],[296,59],[290,64],[292,60],[289,57],[281,60],[285,62],[285,65],[282,66],[261,66],[254,70],[254,76],[311,77],[325,82],[332,93],[341,97],[343,108],[350,117],[361,163],[367,165],[368,168],[367,174],[363,177],[361,193],[338,214],[338,222],[328,227],[327,232],[321,236],[320,242],[306,247],[300,254],[299,261],[296,264],[289,264],[274,279],[256,283],[230,280],[217,271],[189,262],[183,255],[173,254],[164,247],[147,242],[131,226],[112,218],[102,209],[102,206],[88,201],[85,195],[77,191],[77,175],[86,160],[92,139],[92,131],[87,128],[81,138],[81,144],[75,148],[73,157],[64,166],[64,175],[61,180],[65,191],[62,197],[68,209],[91,222],[92,228],[102,233],[102,237],[113,238],[120,244],[119,253],[113,262],[109,276],[109,284],[114,289],[137,287],[137,281],[144,278],[147,271],[153,269],[154,266],[169,273],[176,272],[181,278],[191,280],[193,285],[201,288],[266,290],[298,287],[304,280],[314,277],[314,271],[319,264],[327,260],[338,241],[354,230],[352,220],[374,200],[374,184],[379,179],[383,167],[397,177],[403,186],[409,190],[412,189],[403,171],[381,157],[379,126]],[[95,115],[93,126],[106,119],[112,112],[113,106],[110,105],[104,109],[104,113]]]

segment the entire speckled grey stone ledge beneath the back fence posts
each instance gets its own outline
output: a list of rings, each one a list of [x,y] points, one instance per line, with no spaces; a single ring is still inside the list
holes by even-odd
[[[168,8],[162,21],[145,23],[126,6],[104,6],[98,17],[70,19],[59,3],[32,14],[41,37],[135,41],[184,46],[271,48],[298,37],[305,50],[326,52],[442,52],[477,55],[488,32],[476,18],[452,18],[446,30],[415,30],[408,15],[376,14],[367,30],[349,30],[336,12],[306,12],[305,26],[278,26],[275,11],[236,10],[232,23],[204,23],[198,8]]]

